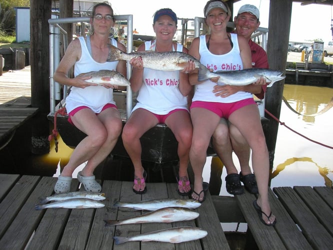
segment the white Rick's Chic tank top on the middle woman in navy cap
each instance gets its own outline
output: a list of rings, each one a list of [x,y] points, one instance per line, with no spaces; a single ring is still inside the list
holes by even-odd
[[[154,41],[146,41],[144,44],[145,50],[155,50]],[[181,44],[177,44],[177,51],[182,51]],[[187,97],[179,90],[179,71],[144,68],[143,84],[136,100],[138,102],[132,111],[144,108],[155,114],[167,114],[176,108],[187,110]]]

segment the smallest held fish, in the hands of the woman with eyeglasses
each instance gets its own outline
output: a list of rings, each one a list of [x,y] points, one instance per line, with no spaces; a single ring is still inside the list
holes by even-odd
[[[96,84],[109,83],[117,86],[129,86],[129,81],[119,72],[114,70],[101,69],[99,71],[90,71],[80,73],[77,76],[91,76],[84,81]]]

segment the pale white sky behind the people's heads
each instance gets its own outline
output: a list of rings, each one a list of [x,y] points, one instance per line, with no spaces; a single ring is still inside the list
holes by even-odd
[[[140,34],[147,35],[154,35],[152,16],[157,9],[169,7],[178,18],[203,17],[203,7],[206,3],[205,0],[109,0],[109,2],[115,14],[133,14],[133,28],[136,28]],[[246,3],[259,8],[260,26],[268,28],[269,0],[240,0],[234,3],[234,15],[239,7]],[[326,44],[332,40],[331,19],[332,7],[329,5],[301,6],[300,2],[293,2],[289,41],[302,42],[321,38]]]

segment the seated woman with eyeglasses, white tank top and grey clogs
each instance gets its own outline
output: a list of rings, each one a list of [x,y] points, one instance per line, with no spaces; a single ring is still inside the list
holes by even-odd
[[[123,44],[109,38],[114,24],[111,6],[106,2],[96,4],[92,9],[90,24],[91,35],[81,36],[70,42],[53,75],[55,81],[71,86],[66,98],[68,121],[87,135],[76,146],[58,176],[54,186],[56,193],[70,190],[74,169],[85,161],[86,165],[77,174],[78,181],[83,184],[86,191],[101,191],[93,171],[110,153],[122,129],[120,114],[113,100],[113,88],[117,86],[108,83],[102,85],[88,83],[85,80],[90,76],[78,76],[84,72],[108,69],[126,77],[125,61],[106,61],[109,43],[126,51]],[[72,66],[74,66],[74,77],[70,78],[67,73]]]

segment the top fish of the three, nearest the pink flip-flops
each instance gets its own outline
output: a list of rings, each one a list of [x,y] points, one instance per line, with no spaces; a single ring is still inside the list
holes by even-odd
[[[118,207],[129,207],[136,210],[149,210],[154,211],[163,207],[185,207],[185,208],[196,208],[201,203],[194,199],[149,199],[141,200],[137,202],[120,202],[117,201],[113,204]]]

